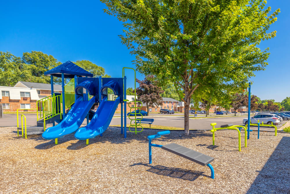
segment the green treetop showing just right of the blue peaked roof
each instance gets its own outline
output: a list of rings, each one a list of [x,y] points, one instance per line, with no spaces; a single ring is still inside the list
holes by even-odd
[[[99,76],[111,77],[110,75],[105,74],[104,67],[98,66],[89,60],[77,60],[76,62],[73,62],[73,63],[80,66],[84,70],[87,70],[88,72],[92,73],[94,77],[99,77]]]

